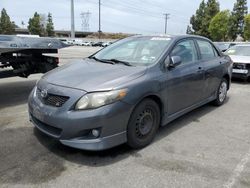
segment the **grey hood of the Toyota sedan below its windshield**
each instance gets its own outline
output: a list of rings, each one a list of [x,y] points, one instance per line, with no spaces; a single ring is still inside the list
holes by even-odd
[[[50,84],[90,91],[112,90],[143,74],[146,67],[107,64],[90,59],[66,64],[45,74]]]

